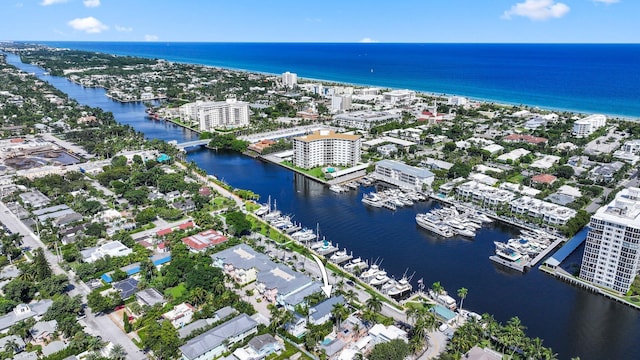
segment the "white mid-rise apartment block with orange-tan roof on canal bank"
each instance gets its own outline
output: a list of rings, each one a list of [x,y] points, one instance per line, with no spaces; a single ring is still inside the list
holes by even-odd
[[[303,169],[324,165],[355,166],[360,162],[360,135],[320,130],[293,139],[293,163]]]

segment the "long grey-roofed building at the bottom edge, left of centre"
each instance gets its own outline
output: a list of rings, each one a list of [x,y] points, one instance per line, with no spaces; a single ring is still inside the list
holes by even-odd
[[[240,314],[235,318],[216,326],[215,328],[196,336],[180,347],[183,360],[211,360],[229,347],[258,332],[258,323],[247,314]]]

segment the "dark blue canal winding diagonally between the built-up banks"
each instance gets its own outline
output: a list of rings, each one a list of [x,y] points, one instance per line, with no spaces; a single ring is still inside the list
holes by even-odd
[[[65,78],[44,75],[43,70],[20,63],[9,55],[8,62],[35,73],[82,104],[111,111],[116,120],[131,125],[150,139],[197,139],[197,134],[174,124],[148,120],[140,103],[121,104],[105,96],[103,89],[83,88]],[[278,209],[294,215],[294,220],[314,228],[355,256],[378,259],[396,277],[413,274],[414,286],[424,279],[429,286],[440,281],[455,297],[461,287],[469,289],[466,309],[488,312],[498,321],[518,316],[531,337],[544,339],[544,345],[560,359],[580,356],[589,359],[634,359],[640,356],[639,312],[604,297],[575,288],[533,269],[526,274],[513,272],[491,262],[493,241],[505,241],[517,229],[495,224],[483,228],[474,240],[440,239],[423,231],[414,217],[433,206],[420,203],[396,212],[362,205],[360,189],[335,194],[327,187],[277,165],[238,153],[199,150],[187,155],[209,174],[237,188],[250,189],[266,201],[277,201]],[[566,264],[580,263],[582,248]],[[569,265],[571,266],[571,265]]]

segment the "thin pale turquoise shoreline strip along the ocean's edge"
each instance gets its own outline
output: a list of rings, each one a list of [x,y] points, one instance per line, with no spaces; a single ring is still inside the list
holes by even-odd
[[[34,43],[38,44],[38,45],[51,47],[51,48],[62,49],[60,47],[48,45],[48,44],[46,44],[46,42],[44,42],[44,43],[34,42]],[[74,43],[77,43],[77,42],[74,42]],[[205,43],[202,43],[202,44],[208,44],[208,43],[205,42]],[[232,43],[232,44],[235,44],[235,43]],[[306,43],[304,43],[304,44],[306,44]],[[593,45],[593,44],[590,44],[590,45]],[[141,56],[141,55],[138,55],[138,54],[131,55],[131,54],[128,54],[126,52],[112,53],[112,52],[105,52],[103,50],[99,50],[98,51],[98,50],[72,49],[72,48],[69,48],[69,47],[66,47],[64,49],[76,50],[76,51],[96,51],[96,52],[100,52],[100,53],[104,53],[104,54],[117,55],[117,56],[130,56],[130,57],[134,57],[134,58],[137,57],[137,58],[144,58],[144,59],[157,59],[157,60],[162,60],[162,61],[166,61],[166,62],[169,62],[169,63],[198,65],[198,66],[208,67],[208,68],[213,68],[213,69],[238,71],[238,72],[243,72],[243,73],[258,74],[258,75],[264,75],[264,76],[280,76],[281,75],[280,73],[273,73],[273,72],[269,72],[269,71],[260,71],[260,70],[252,70],[252,69],[246,69],[246,68],[242,68],[242,67],[234,67],[234,66],[226,66],[226,65],[209,65],[209,64],[203,64],[202,62],[196,62],[196,61],[170,60],[170,59],[167,59],[167,58],[160,58],[160,57],[155,57],[155,56]],[[295,69],[290,69],[288,71],[295,72],[296,70]],[[585,110],[580,110],[580,109],[570,109],[570,108],[554,107],[554,106],[548,106],[548,105],[535,105],[535,104],[529,104],[529,103],[524,103],[524,102],[511,102],[509,100],[496,100],[496,99],[491,99],[491,98],[469,96],[469,95],[465,95],[465,94],[456,94],[456,93],[448,93],[448,92],[436,92],[434,90],[415,90],[415,89],[411,89],[409,87],[393,87],[393,86],[387,86],[387,85],[376,85],[376,84],[371,84],[371,83],[349,82],[349,81],[346,81],[344,79],[343,80],[319,79],[319,78],[314,78],[314,77],[306,77],[306,76],[303,76],[303,75],[300,75],[298,77],[298,79],[305,80],[305,81],[311,81],[311,82],[330,83],[330,84],[335,84],[335,85],[338,85],[338,86],[379,87],[381,89],[391,89],[391,90],[408,89],[408,90],[415,91],[417,94],[423,94],[423,95],[427,95],[427,96],[434,96],[434,97],[460,96],[460,97],[466,97],[467,99],[469,99],[471,101],[485,103],[485,104],[494,104],[494,105],[497,105],[497,106],[504,106],[504,107],[522,106],[522,107],[529,107],[529,108],[533,108],[533,109],[539,109],[539,110],[542,110],[542,111],[569,112],[569,113],[572,113],[574,115],[603,114],[603,115],[605,115],[605,116],[607,116],[609,118],[616,119],[616,120],[640,121],[640,115],[614,114],[614,113],[608,113],[608,112],[602,112],[602,111],[590,112],[590,111],[585,111]]]

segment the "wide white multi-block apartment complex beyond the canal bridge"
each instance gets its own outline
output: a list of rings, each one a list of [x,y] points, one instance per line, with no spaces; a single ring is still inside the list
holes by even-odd
[[[249,103],[236,99],[196,101],[180,106],[180,118],[197,122],[201,131],[247,126]]]

